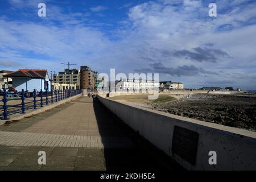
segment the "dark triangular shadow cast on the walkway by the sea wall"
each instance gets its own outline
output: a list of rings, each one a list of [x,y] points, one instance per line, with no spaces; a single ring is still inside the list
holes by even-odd
[[[184,170],[164,152],[152,146],[134,132],[104,105],[94,98],[93,109],[101,137],[129,138],[127,147],[111,147],[104,143],[104,158],[107,171],[173,171]]]

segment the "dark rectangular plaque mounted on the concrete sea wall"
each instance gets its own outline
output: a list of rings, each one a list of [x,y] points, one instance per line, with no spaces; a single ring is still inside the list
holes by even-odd
[[[183,127],[174,126],[172,152],[195,165],[199,134]]]

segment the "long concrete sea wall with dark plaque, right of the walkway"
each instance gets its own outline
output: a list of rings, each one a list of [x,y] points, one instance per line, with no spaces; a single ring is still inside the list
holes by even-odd
[[[186,169],[256,170],[255,132],[97,97],[123,122]],[[216,164],[211,165],[209,160]]]

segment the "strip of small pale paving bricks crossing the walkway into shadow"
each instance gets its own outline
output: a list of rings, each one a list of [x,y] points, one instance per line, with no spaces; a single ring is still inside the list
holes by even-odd
[[[96,137],[0,131],[0,144],[6,146],[121,148],[133,146],[127,137]]]

